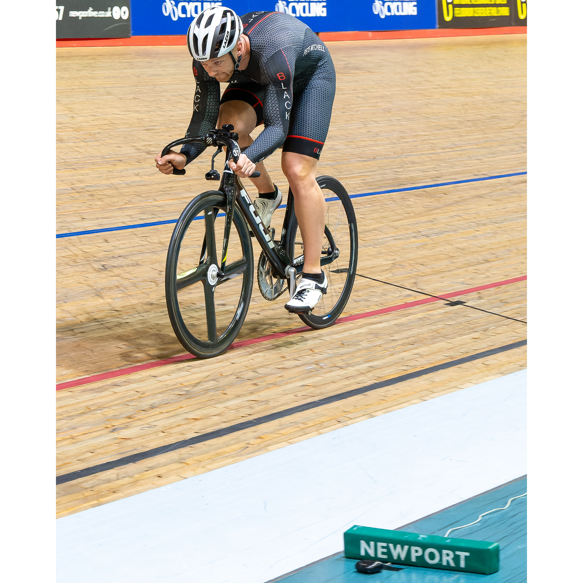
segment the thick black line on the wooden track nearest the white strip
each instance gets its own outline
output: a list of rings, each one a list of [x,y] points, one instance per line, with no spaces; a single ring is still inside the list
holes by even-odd
[[[505,346],[500,346],[498,348],[493,348],[490,350],[484,350],[483,352],[478,352],[477,354],[470,354],[470,356],[465,356],[462,359],[450,360],[448,363],[436,364],[436,366],[431,366],[429,368],[422,368],[422,370],[417,370],[414,373],[402,374],[399,377],[389,378],[386,381],[375,382],[372,385],[367,385],[366,387],[359,387],[357,389],[352,389],[350,391],[344,391],[338,395],[331,395],[323,399],[318,399],[317,401],[310,401],[309,403],[304,403],[303,405],[296,405],[289,409],[283,409],[276,413],[270,413],[269,415],[264,415],[262,417],[257,417],[256,419],[250,419],[242,423],[236,423],[229,427],[223,427],[223,429],[216,429],[215,431],[209,431],[208,433],[203,433],[199,436],[189,437],[188,439],[177,441],[168,445],[161,445],[161,447],[156,447],[154,449],[149,449],[148,451],[142,451],[138,454],[127,455],[124,458],[115,459],[111,462],[100,463],[96,466],[90,468],[85,468],[82,470],[77,470],[76,472],[71,472],[64,474],[62,476],[57,476],[57,486],[59,484],[64,484],[66,482],[72,482],[80,477],[92,476],[96,473],[106,472],[114,468],[120,468],[121,466],[128,465],[129,463],[136,463],[142,461],[142,459],[153,458],[156,455],[167,454],[170,451],[175,451],[176,449],[182,449],[195,445],[197,443],[202,443],[203,441],[209,441],[216,439],[217,437],[228,436],[231,433],[237,433],[237,431],[243,431],[245,429],[250,429],[251,427],[257,427],[264,423],[269,423],[270,421],[275,421],[276,419],[282,419],[283,417],[289,417],[295,413],[301,413],[302,411],[308,411],[310,409],[315,409],[323,405],[329,405],[330,403],[335,403],[336,401],[343,401],[344,399],[349,399],[350,397],[356,395],[362,395],[368,391],[375,391],[375,389],[381,389],[384,387],[390,387],[391,385],[396,385],[399,382],[409,381],[413,378],[423,377],[426,374],[436,373],[440,370],[445,370],[446,368],[451,368],[454,366],[459,366],[459,364],[465,364],[472,362],[473,360],[479,360],[493,356],[501,352],[506,352],[507,350],[512,350],[514,348],[519,348],[521,346],[526,346],[526,340],[520,340],[519,342],[513,342],[512,344],[507,344]]]

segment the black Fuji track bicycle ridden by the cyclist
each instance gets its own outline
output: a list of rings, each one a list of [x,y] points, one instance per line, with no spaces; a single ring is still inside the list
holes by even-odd
[[[240,178],[227,164],[230,159],[237,163],[241,154],[233,129],[227,124],[205,136],[176,140],[161,154],[166,156],[172,147],[186,143],[217,147],[205,178],[220,180],[220,185],[196,196],[182,211],[166,259],[168,316],[182,346],[199,358],[224,352],[243,326],[254,280],[251,233],[262,250],[257,283],[266,300],[276,300],[286,290],[293,296],[304,262],[291,188],[281,237],[276,240],[275,228],[266,229]],[[223,147],[226,156],[221,177],[215,170],[215,157]],[[174,168],[173,174],[185,174],[185,170]],[[251,177],[259,175],[255,171]],[[358,258],[356,217],[346,189],[331,176],[320,176],[317,181],[326,201],[320,264],[328,290],[311,312],[298,314],[315,329],[331,326],[342,313]]]

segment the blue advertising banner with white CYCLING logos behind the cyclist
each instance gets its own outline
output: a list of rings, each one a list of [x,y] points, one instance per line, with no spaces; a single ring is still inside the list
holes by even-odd
[[[382,0],[227,0],[226,2],[180,2],[179,0],[134,0],[132,36],[186,34],[192,19],[210,6],[229,6],[238,15],[252,10],[276,10],[296,16],[314,32],[348,30],[436,29],[436,0],[383,2]]]

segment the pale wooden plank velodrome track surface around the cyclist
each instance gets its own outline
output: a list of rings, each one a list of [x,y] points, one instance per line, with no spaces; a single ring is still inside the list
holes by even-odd
[[[350,194],[525,171],[526,35],[328,47],[338,81],[320,173]],[[57,50],[57,233],[176,219],[209,189],[210,153],[186,177],[153,164],[184,135],[193,90],[186,47]],[[286,192],[279,157],[266,165]],[[353,199],[357,271],[387,283],[357,277],[346,315],[427,297],[395,285],[440,295],[520,279],[453,298],[465,305],[436,300],[59,390],[57,475],[525,339],[525,196],[517,175]],[[172,229],[57,239],[57,382],[184,354],[164,301]],[[284,303],[255,286],[238,340],[302,326]],[[521,370],[525,359],[526,347],[507,350],[73,479],[57,486],[57,516]]]

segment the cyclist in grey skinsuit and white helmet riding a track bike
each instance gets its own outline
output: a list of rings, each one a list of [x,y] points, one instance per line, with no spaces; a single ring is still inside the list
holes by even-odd
[[[240,177],[251,178],[259,191],[254,205],[266,227],[282,201],[263,160],[283,147],[282,170],[294,193],[304,244],[304,268],[296,293],[285,305],[309,312],[326,293],[320,267],[325,201],[316,169],[328,134],[336,73],[328,49],[310,28],[282,12],[249,12],[241,18],[226,6],[203,10],[187,33],[196,80],[194,111],[186,136],[205,135],[223,124],[234,125],[241,156],[229,162]],[[220,98],[219,82],[229,83]],[[255,127],[265,128],[254,141]],[[156,156],[163,174],[184,168],[205,149],[194,143],[180,153]]]

